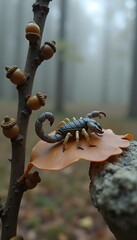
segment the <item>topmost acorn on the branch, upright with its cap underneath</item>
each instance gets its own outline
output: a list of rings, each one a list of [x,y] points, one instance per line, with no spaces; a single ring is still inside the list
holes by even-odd
[[[30,22],[26,26],[26,39],[30,42],[37,42],[40,39],[40,27],[35,22]]]

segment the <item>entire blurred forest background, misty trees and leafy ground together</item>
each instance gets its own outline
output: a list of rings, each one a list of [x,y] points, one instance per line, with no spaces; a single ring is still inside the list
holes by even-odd
[[[18,95],[5,66],[24,69],[25,27],[33,19],[33,3],[0,0],[0,121],[16,117]],[[47,93],[47,105],[31,116],[26,160],[38,141],[34,122],[43,111],[55,113],[57,122],[102,110],[104,128],[136,138],[137,0],[52,0],[42,42],[50,40],[56,41],[57,53],[38,68],[33,88],[33,94]],[[0,142],[3,201],[10,171],[5,160],[11,152],[3,134]],[[91,204],[88,168],[81,162],[61,172],[40,172],[42,183],[22,201],[19,232],[25,240],[115,239]]]

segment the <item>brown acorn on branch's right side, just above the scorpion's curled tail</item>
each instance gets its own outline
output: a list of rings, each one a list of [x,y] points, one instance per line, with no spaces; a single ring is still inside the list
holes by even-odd
[[[41,108],[41,106],[45,106],[45,99],[47,98],[46,94],[36,93],[35,96],[30,96],[27,100],[27,106],[31,110],[37,110]]]

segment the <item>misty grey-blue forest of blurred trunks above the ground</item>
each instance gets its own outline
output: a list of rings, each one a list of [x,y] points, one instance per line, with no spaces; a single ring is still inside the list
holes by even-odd
[[[1,99],[17,100],[4,67],[24,68],[31,3],[0,0]],[[136,116],[136,1],[56,0],[50,9],[43,41],[56,40],[57,54],[40,66],[34,93],[48,93],[48,102],[58,111],[105,105]]]

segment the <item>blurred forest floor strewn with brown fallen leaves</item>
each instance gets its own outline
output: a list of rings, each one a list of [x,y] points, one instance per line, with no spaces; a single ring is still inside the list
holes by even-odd
[[[1,121],[5,115],[16,116],[15,103],[9,105],[7,102],[1,102],[0,110]],[[39,140],[34,133],[34,121],[41,112],[42,110],[34,112],[31,117],[26,149],[27,162],[32,147]],[[82,111],[79,114],[83,116]],[[69,116],[57,114],[56,123],[64,117],[71,116],[73,113]],[[136,119],[122,116],[110,119],[108,116],[101,120],[101,125],[113,129],[117,134],[134,134],[137,139]],[[50,131],[49,127],[47,131]],[[3,203],[9,181],[8,159],[11,157],[11,147],[10,141],[2,134],[0,143],[0,198]],[[92,205],[88,169],[89,163],[80,161],[62,171],[40,171],[41,183],[35,189],[25,192],[22,199],[18,234],[23,235],[25,240],[115,240],[103,218]]]

